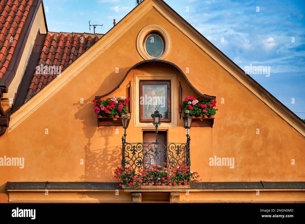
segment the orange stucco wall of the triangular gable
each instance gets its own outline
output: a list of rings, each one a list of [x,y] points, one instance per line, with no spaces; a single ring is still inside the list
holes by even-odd
[[[305,181],[304,139],[151,9],[81,73],[11,132],[0,137],[0,157],[25,158],[23,169],[0,167],[0,202],[8,201],[4,189],[7,181],[117,182],[113,171],[120,165],[124,130],[97,127],[92,100],[112,90],[131,66],[143,60],[136,50],[136,37],[142,27],[151,23],[161,24],[170,34],[172,47],[165,60],[182,70],[188,67],[186,75],[192,85],[202,93],[217,96],[218,111],[213,128],[190,129],[191,167],[199,172],[202,181]],[[116,67],[119,73],[115,73]],[[178,70],[146,65],[132,70],[110,97],[126,96],[127,84],[133,83],[135,73],[177,74],[183,97],[197,96]],[[223,104],[221,98],[224,98]],[[173,109],[178,110],[178,106]],[[177,127],[168,128],[169,142],[186,141],[178,116],[177,121]],[[256,134],[257,128],[260,134]],[[131,122],[127,140],[142,142],[142,128],[133,127]],[[235,168],[209,166],[209,158],[215,155],[235,157]],[[81,159],[84,165],[80,164]],[[295,165],[291,164],[292,159]]]

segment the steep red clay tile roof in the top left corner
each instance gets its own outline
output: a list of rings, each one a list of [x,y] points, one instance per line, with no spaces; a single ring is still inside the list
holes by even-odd
[[[2,79],[33,0],[0,1],[0,80]]]

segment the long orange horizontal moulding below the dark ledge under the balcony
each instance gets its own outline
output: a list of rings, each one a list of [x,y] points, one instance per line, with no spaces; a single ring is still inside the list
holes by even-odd
[[[115,196],[117,190],[120,197]],[[46,189],[25,189],[25,190],[7,190],[9,193],[9,202],[95,202],[95,203],[113,203],[113,202],[131,202],[131,193],[139,196],[139,192],[124,192],[123,189],[48,189],[48,195],[45,195]],[[260,196],[256,195],[256,189],[189,189],[189,195],[185,195],[185,190],[180,192],[170,192],[173,196],[171,202],[177,202],[178,193],[180,201],[183,203],[205,203],[205,202],[304,202],[305,189],[260,189]],[[158,192],[156,192],[158,193]],[[161,193],[161,192],[159,192]],[[141,193],[142,196],[142,193]],[[176,198],[174,198],[176,196]],[[140,199],[138,197],[138,199]],[[142,201],[142,197],[141,197]],[[135,202],[135,201],[134,201]],[[145,202],[157,202],[150,199]],[[159,201],[158,201],[159,202]],[[164,201],[165,202],[165,201]]]

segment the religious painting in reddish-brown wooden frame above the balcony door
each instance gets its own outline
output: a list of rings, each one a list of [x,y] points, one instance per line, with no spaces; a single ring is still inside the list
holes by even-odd
[[[161,122],[170,122],[170,81],[140,81],[140,122],[152,122],[156,109]]]

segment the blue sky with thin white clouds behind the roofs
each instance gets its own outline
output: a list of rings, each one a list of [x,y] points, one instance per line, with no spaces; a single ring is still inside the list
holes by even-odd
[[[91,20],[91,24],[103,24],[97,33],[106,33],[113,19],[119,22],[135,7],[135,0],[43,2],[48,30],[55,32],[93,32],[88,26]],[[243,70],[250,64],[270,66],[270,76],[251,77],[305,118],[305,1],[165,2]]]

